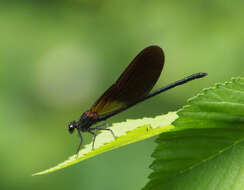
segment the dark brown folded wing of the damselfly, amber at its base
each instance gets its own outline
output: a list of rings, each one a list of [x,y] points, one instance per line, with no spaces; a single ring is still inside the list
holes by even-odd
[[[164,65],[158,46],[142,50],[114,83],[92,106],[99,115],[109,113],[146,96],[157,82]]]

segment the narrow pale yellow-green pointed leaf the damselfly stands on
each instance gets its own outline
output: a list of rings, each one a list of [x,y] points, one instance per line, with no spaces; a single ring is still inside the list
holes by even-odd
[[[116,139],[114,139],[109,132],[103,131],[96,137],[94,150],[92,150],[92,143],[88,144],[82,150],[80,150],[78,156],[73,155],[68,160],[58,164],[57,166],[33,175],[42,175],[54,172],[103,152],[168,131],[174,128],[171,123],[177,119],[177,117],[178,116],[175,112],[171,112],[155,118],[127,120],[126,122],[115,123],[112,127],[110,127],[110,129],[113,130],[114,134],[116,135]]]

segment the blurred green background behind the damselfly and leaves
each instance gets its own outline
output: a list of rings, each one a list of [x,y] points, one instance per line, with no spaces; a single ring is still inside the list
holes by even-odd
[[[159,45],[166,54],[155,88],[195,72],[209,76],[109,123],[177,110],[200,89],[243,75],[243,7],[243,0],[1,1],[0,189],[143,187],[155,138],[50,175],[31,174],[75,153],[79,138],[66,125],[146,46]]]

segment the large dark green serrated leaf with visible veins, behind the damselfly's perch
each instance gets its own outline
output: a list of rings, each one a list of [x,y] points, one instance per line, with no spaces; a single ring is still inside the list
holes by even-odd
[[[156,140],[144,189],[244,187],[244,78],[204,89],[188,103],[178,112],[175,128]]]

